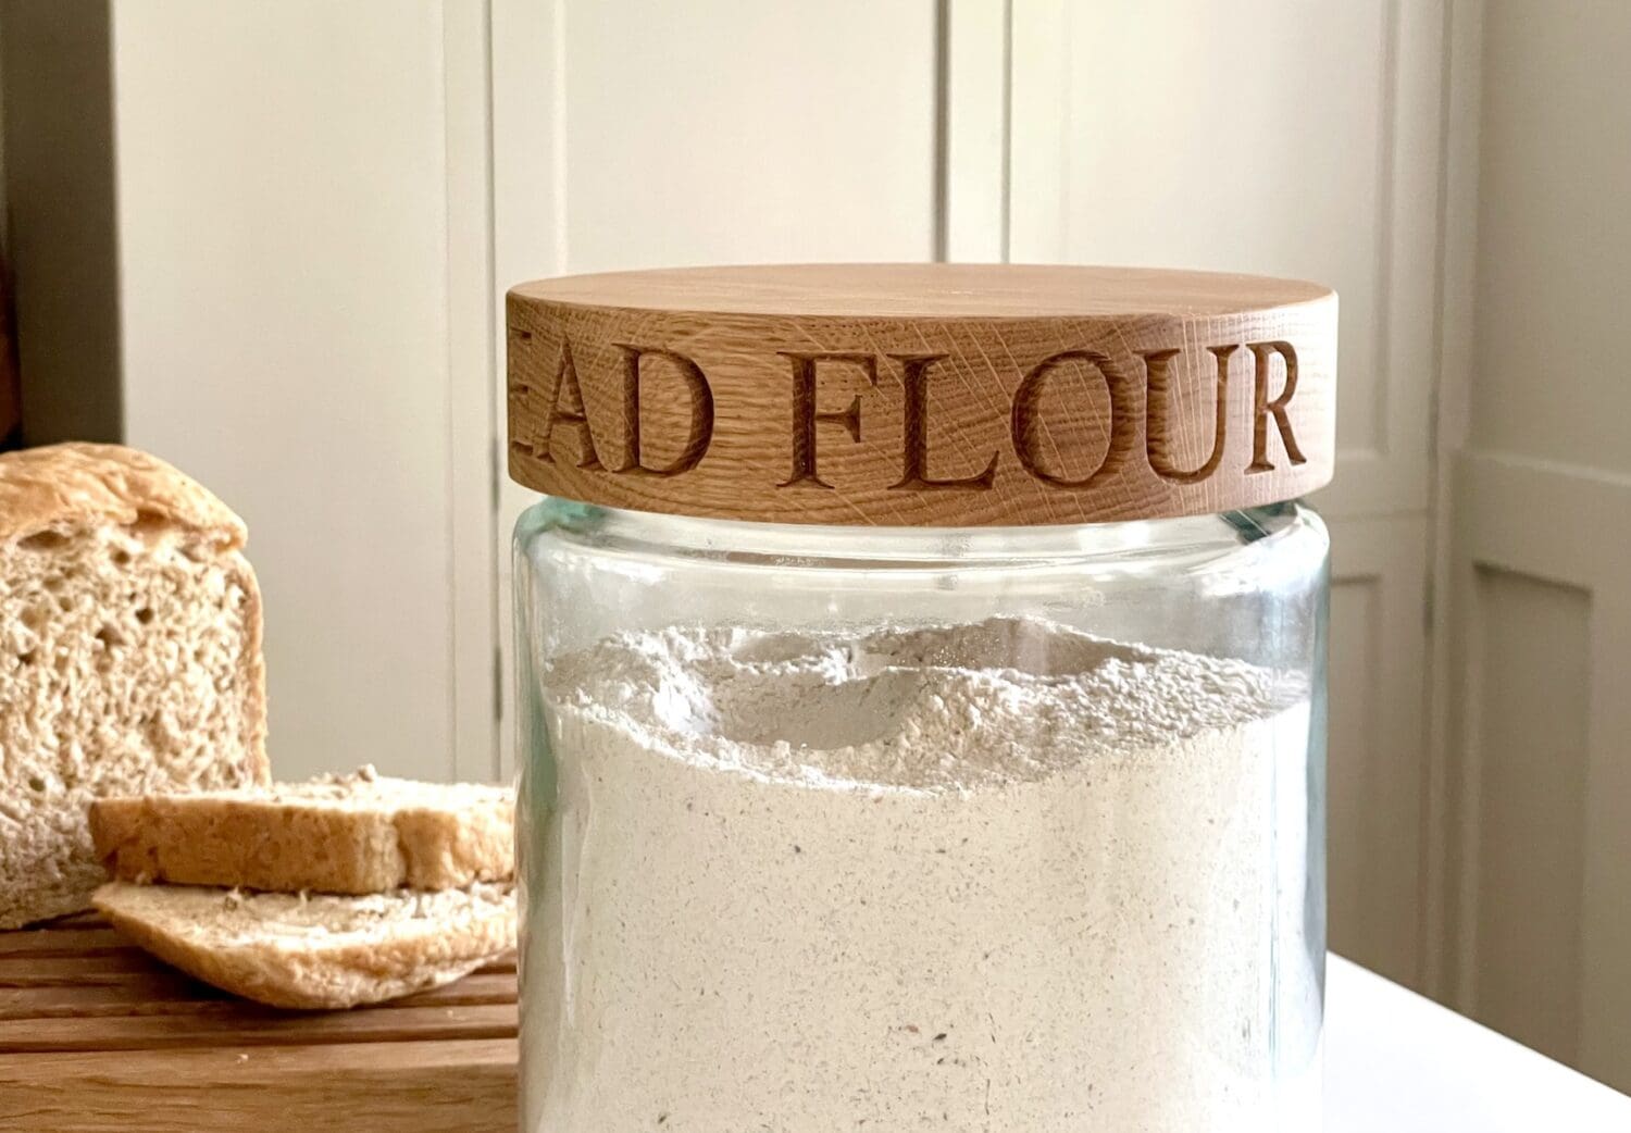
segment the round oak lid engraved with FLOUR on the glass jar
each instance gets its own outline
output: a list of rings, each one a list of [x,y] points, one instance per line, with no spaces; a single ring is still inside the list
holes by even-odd
[[[509,471],[646,512],[983,527],[1331,479],[1336,293],[1213,272],[802,264],[509,293]]]

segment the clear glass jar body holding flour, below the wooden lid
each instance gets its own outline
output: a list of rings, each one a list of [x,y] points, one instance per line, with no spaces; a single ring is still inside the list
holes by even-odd
[[[522,1128],[1316,1128],[1326,561],[530,509]]]

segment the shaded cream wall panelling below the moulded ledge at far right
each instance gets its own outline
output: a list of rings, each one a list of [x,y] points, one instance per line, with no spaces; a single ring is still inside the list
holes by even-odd
[[[1631,479],[1455,465],[1458,1006],[1631,1087]]]

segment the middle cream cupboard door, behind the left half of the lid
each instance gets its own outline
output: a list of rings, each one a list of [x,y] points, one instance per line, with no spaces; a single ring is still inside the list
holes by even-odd
[[[493,26],[499,292],[561,272],[935,256],[935,5],[494,0]],[[501,487],[502,626],[509,530],[532,499]]]

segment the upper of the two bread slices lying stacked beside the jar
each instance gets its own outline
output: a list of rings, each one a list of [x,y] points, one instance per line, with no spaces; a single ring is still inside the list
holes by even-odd
[[[460,888],[514,877],[515,797],[362,768],[271,789],[99,799],[91,838],[108,872],[127,882],[285,893]]]

